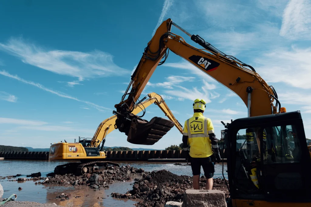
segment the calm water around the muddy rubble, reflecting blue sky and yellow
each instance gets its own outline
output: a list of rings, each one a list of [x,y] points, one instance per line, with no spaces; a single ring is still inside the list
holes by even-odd
[[[59,164],[65,164],[67,161],[45,161],[45,160],[0,160],[0,176],[41,172],[42,176],[53,172],[54,168]],[[121,165],[131,165],[136,168],[143,168],[145,171],[166,169],[178,175],[192,176],[191,166],[174,165],[174,163],[164,162],[118,162]],[[226,171],[226,164],[224,165]],[[201,169],[201,174],[203,170]],[[216,164],[214,178],[222,177],[222,165]],[[225,173],[225,177],[227,175]],[[53,186],[53,185],[35,185],[34,181],[27,182],[10,182],[0,180],[4,189],[4,198],[17,194],[19,201],[35,201],[39,203],[56,203],[62,206],[132,206],[139,200],[116,200],[110,197],[112,192],[125,193],[132,189],[133,182],[115,182],[109,186],[107,190],[94,191],[86,186]],[[18,187],[22,187],[21,191]],[[79,198],[71,198],[66,201],[54,199],[56,196],[67,193],[72,196],[81,196]],[[88,195],[88,196],[86,196]],[[99,197],[99,199],[97,199]]]

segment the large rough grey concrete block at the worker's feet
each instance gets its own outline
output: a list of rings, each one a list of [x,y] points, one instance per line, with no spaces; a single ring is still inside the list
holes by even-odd
[[[191,190],[185,191],[183,207],[226,207],[225,193],[219,190]]]

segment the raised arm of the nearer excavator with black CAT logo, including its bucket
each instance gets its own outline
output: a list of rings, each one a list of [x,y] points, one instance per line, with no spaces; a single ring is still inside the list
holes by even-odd
[[[186,43],[181,36],[172,33],[172,25],[182,30],[203,49],[193,47]],[[128,140],[136,140],[135,143],[137,144],[152,145],[161,138],[162,134],[166,134],[166,130],[172,125],[168,120],[167,122],[160,120],[161,123],[159,124],[156,120],[157,117],[151,119],[150,122],[152,123],[148,123],[141,117],[132,114],[151,75],[158,65],[165,62],[169,50],[236,93],[248,106],[248,116],[275,114],[278,105],[279,111],[281,110],[281,104],[277,100],[274,88],[269,86],[252,66],[220,52],[200,36],[191,35],[172,22],[171,19],[168,19],[159,26],[155,35],[147,44],[121,102],[115,105],[116,128],[128,135]],[[162,59],[164,60],[161,61]],[[127,99],[125,99],[126,96],[128,96]],[[273,105],[274,100],[276,100],[276,106]],[[151,128],[156,128],[156,131],[150,131],[150,127],[147,127],[152,124],[154,126],[151,126]],[[162,131],[157,128],[159,125],[163,128]],[[138,129],[140,133],[132,133]],[[154,139],[147,138],[155,136]]]

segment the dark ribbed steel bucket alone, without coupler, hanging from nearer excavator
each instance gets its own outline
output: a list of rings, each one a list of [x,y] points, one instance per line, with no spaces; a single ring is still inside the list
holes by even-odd
[[[153,145],[158,142],[172,127],[174,122],[161,117],[146,120],[132,119],[128,132],[128,142],[132,144]]]

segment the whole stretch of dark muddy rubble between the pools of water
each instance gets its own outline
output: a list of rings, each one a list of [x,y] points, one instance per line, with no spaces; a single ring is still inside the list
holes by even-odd
[[[41,175],[38,174],[38,175]],[[56,184],[56,185],[86,185],[94,191],[109,188],[109,185],[116,181],[135,181],[133,187],[125,194],[113,192],[112,197],[116,199],[142,199],[137,206],[164,206],[167,201],[183,201],[184,191],[192,189],[192,177],[179,176],[167,170],[145,172],[144,169],[137,169],[129,165],[110,166],[109,169],[99,173],[84,174],[76,176],[74,174],[52,175],[49,177],[17,178],[16,176],[0,177],[8,178],[10,181],[29,181],[38,180],[35,185]],[[16,179],[17,178],[17,179]],[[205,188],[206,178],[200,178],[201,189]],[[221,190],[228,196],[228,189],[225,180],[221,178],[214,179],[214,190]],[[69,200],[70,195],[59,195],[55,199]]]

